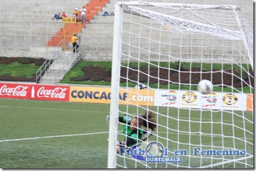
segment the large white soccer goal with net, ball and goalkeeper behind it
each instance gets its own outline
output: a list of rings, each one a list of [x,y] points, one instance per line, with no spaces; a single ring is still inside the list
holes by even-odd
[[[113,34],[108,168],[254,167],[253,29],[237,6],[117,2]],[[145,111],[157,129],[117,153],[119,116]]]

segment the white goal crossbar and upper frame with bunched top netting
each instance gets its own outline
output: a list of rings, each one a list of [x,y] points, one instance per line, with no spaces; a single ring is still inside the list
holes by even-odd
[[[245,37],[242,31],[242,25],[239,23],[239,17],[236,13],[239,10],[237,5],[198,5],[198,4],[183,4],[183,3],[149,3],[145,1],[130,1],[130,2],[117,2],[118,5],[123,6],[124,13],[131,13],[133,15],[141,15],[153,19],[157,23],[161,23],[167,29],[175,29],[176,31],[191,31],[197,33],[206,33],[209,35],[214,35],[216,37],[223,37],[224,39],[234,40],[234,41],[243,41],[245,48],[247,49],[247,54],[249,60],[253,67],[253,35],[250,37]],[[189,21],[187,19],[181,19],[179,17],[173,17],[163,13],[157,13],[155,11],[149,11],[147,9],[141,9],[135,6],[152,6],[152,7],[166,7],[166,8],[182,8],[189,9],[189,11],[198,10],[198,9],[225,9],[232,10],[235,14],[235,19],[237,20],[239,27],[237,30],[227,29],[219,27],[213,23],[209,25],[205,23],[198,23],[195,21]],[[192,12],[191,12],[192,13]],[[195,14],[194,14],[195,15]],[[175,26],[175,27],[171,27]]]

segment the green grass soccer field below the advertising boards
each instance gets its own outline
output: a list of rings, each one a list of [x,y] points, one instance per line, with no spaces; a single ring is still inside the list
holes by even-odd
[[[79,102],[50,102],[40,100],[13,100],[0,98],[0,168],[107,168],[109,125],[105,117],[109,114],[109,104],[87,104]],[[176,149],[191,151],[193,147],[208,149],[211,144],[221,148],[235,146],[246,148],[253,154],[253,120],[251,113],[242,112],[232,115],[225,112],[177,110],[157,108],[159,113],[169,113],[169,117],[159,116],[157,132],[151,141],[162,142],[170,152]],[[121,111],[143,112],[135,106],[120,106]],[[179,122],[177,121],[179,120]],[[200,124],[201,123],[201,124]],[[224,124],[221,124],[224,123]],[[235,126],[232,126],[235,125]],[[169,127],[167,131],[165,126]],[[241,129],[249,130],[245,132]],[[121,126],[119,126],[121,130]],[[179,130],[179,132],[177,132]],[[187,133],[191,132],[191,134]],[[203,132],[199,136],[197,132]],[[120,132],[121,133],[121,132]],[[214,136],[211,136],[214,134]],[[233,135],[237,137],[233,139]],[[201,138],[199,138],[201,137]],[[246,137],[247,145],[243,142]],[[118,136],[123,140],[122,136]],[[166,138],[169,143],[166,144]],[[179,143],[177,143],[179,142]],[[189,148],[189,144],[191,144]],[[172,153],[170,153],[173,155]],[[207,166],[221,162],[222,156],[195,158],[182,156],[181,168]],[[239,156],[239,158],[244,156]],[[217,159],[214,159],[217,158]],[[218,159],[219,158],[219,159]],[[228,158],[235,159],[234,156]],[[238,157],[237,157],[238,158]],[[145,168],[143,164],[117,158],[121,165],[128,168]],[[253,158],[246,161],[253,166]],[[244,168],[237,162],[236,168]],[[155,168],[155,164],[148,164]],[[158,164],[158,168],[176,168],[175,164]],[[233,162],[215,168],[233,168]],[[249,167],[249,166],[247,166]],[[250,168],[250,167],[249,167]]]

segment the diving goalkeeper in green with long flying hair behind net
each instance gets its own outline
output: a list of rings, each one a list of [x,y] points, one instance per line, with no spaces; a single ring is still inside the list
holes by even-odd
[[[148,111],[143,115],[133,116],[133,118],[128,116],[119,117],[119,122],[125,123],[123,124],[125,140],[117,143],[118,154],[120,153],[120,148],[131,147],[149,138],[151,136],[151,130],[154,131],[157,127],[157,124],[155,124],[155,115],[153,112]],[[143,130],[141,126],[144,126],[147,130]]]

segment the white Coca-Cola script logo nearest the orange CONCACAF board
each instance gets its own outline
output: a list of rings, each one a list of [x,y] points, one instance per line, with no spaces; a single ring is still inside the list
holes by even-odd
[[[37,91],[37,96],[38,97],[46,97],[46,98],[65,98],[66,90],[67,90],[67,88],[60,88],[60,87],[54,88],[53,90],[49,90],[49,89],[45,88],[45,86],[42,86]]]

